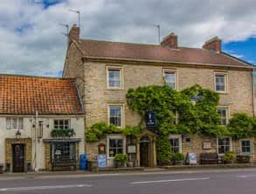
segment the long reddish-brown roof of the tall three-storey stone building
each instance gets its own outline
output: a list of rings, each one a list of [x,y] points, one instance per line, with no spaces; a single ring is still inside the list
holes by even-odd
[[[142,43],[119,43],[81,39],[80,49],[85,57],[110,57],[141,59],[184,64],[216,64],[235,67],[252,67],[236,57],[199,48],[178,47],[170,49],[161,45]]]

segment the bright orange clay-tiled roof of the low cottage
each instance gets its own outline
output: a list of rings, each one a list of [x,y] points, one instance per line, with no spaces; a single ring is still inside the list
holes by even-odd
[[[0,114],[83,114],[73,79],[0,75]]]

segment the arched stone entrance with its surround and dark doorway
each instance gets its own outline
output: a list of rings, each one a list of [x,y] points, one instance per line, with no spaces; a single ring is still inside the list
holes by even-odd
[[[138,164],[142,167],[156,166],[156,134],[144,131],[137,144]]]

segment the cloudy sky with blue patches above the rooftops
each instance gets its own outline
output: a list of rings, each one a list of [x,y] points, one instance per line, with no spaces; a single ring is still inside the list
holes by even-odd
[[[158,43],[170,32],[179,46],[201,48],[218,36],[223,50],[256,64],[255,0],[1,0],[0,73],[61,77],[66,28],[80,37]]]

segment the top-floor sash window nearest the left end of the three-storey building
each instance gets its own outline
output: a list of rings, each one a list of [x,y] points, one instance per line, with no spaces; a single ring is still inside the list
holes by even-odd
[[[120,67],[107,68],[107,87],[111,89],[122,87],[122,69]]]

